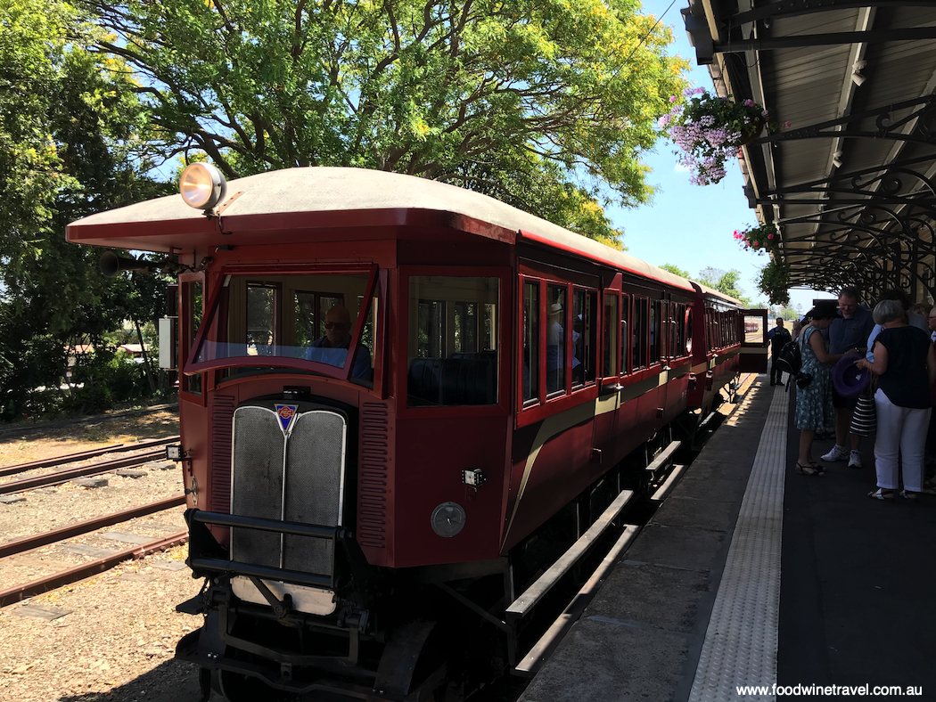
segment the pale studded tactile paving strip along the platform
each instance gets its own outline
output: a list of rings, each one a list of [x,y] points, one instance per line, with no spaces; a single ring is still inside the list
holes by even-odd
[[[760,391],[766,391],[761,385]],[[787,402],[775,391],[712,607],[689,702],[775,700],[739,686],[777,681]]]

